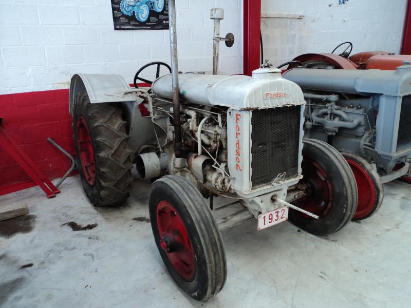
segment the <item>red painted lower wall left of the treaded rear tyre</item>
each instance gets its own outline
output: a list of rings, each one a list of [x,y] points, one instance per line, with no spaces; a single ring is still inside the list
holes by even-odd
[[[46,141],[74,154],[68,89],[0,95],[0,118],[11,137],[49,179],[62,177],[70,160]],[[0,194],[35,186],[29,176],[0,147]]]

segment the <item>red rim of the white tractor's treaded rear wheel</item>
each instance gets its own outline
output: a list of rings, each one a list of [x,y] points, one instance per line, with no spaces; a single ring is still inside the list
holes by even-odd
[[[96,182],[96,162],[94,158],[94,148],[91,140],[90,130],[88,129],[86,119],[80,117],[77,120],[77,147],[83,175],[87,183],[91,186]]]

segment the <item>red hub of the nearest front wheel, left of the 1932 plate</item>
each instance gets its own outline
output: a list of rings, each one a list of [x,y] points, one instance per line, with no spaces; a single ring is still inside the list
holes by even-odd
[[[160,245],[175,271],[186,281],[195,277],[195,255],[187,229],[176,209],[167,201],[157,205]]]

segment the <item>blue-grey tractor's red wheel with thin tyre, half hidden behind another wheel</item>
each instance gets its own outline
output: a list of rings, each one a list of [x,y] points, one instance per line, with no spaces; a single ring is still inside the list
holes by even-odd
[[[384,197],[381,178],[365,159],[352,153],[342,155],[350,165],[358,187],[358,205],[353,219],[366,219],[381,207]]]

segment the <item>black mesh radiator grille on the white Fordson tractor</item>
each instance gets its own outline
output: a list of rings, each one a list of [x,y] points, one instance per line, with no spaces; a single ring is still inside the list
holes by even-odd
[[[298,174],[301,106],[253,111],[251,181],[253,188],[271,184],[279,174]]]

